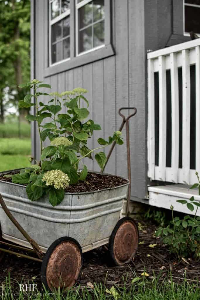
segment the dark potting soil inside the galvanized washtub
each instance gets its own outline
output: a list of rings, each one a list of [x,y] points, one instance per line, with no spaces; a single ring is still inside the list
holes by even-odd
[[[13,171],[9,174],[14,175],[19,171]],[[5,174],[0,176],[0,180],[6,182],[12,182],[11,178],[5,178]],[[6,174],[8,175],[8,173]],[[82,193],[82,192],[93,192],[95,190],[102,190],[105,188],[118,187],[122,184],[126,184],[128,181],[114,175],[104,175],[98,173],[88,173],[85,181],[79,181],[77,184],[72,184],[65,189],[66,193]],[[26,184],[24,184],[26,185]]]

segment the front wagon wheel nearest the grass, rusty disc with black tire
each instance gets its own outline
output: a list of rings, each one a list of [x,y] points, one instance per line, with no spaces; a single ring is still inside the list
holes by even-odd
[[[70,288],[76,283],[82,268],[82,249],[70,237],[58,238],[43,258],[41,281],[47,290]]]

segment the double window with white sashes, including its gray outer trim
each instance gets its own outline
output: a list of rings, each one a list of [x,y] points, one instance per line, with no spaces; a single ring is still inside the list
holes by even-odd
[[[46,1],[46,77],[115,55],[112,0]]]

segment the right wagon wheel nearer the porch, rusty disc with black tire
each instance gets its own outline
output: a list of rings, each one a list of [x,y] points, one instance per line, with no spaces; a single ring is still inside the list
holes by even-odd
[[[124,217],[116,224],[109,241],[109,250],[114,265],[130,262],[138,247],[139,232],[135,221]]]

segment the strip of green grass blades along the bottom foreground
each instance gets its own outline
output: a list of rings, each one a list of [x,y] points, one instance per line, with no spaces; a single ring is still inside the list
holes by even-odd
[[[15,297],[12,286],[10,284],[10,277],[6,278],[2,286],[2,300],[199,300],[200,289],[198,282],[190,283],[187,279],[182,283],[173,282],[172,278],[158,282],[158,278],[147,280],[141,278],[138,281],[126,284],[124,286],[113,286],[111,289],[106,288],[102,284],[94,283],[94,289],[73,287],[70,291],[60,291],[55,293],[48,293],[40,291],[34,292],[32,295],[20,295]],[[18,289],[19,292],[19,289]],[[13,295],[12,295],[13,293]],[[37,294],[37,295],[36,295]]]

